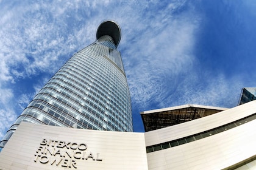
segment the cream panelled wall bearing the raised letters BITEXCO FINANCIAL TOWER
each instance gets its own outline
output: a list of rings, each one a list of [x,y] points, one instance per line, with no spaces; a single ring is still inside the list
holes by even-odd
[[[148,169],[143,133],[21,123],[0,169]]]

